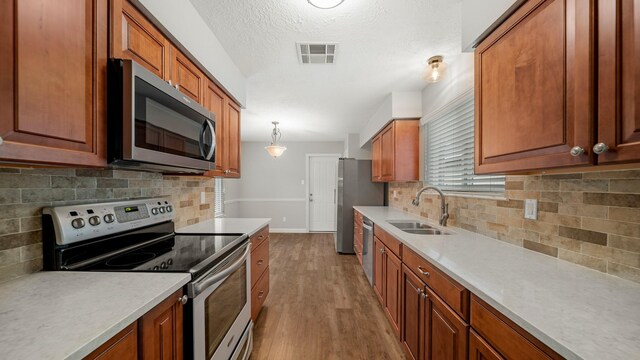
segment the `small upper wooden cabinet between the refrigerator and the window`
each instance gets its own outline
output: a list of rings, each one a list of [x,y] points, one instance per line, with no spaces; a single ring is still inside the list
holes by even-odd
[[[374,182],[417,181],[419,120],[394,120],[372,140]]]

